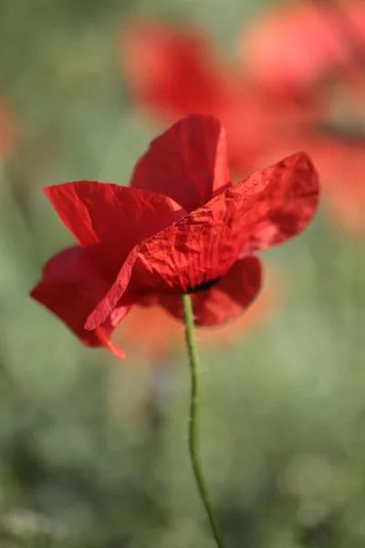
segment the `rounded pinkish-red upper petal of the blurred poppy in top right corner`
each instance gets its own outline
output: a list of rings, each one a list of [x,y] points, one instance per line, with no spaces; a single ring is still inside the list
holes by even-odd
[[[313,85],[365,59],[365,5],[358,0],[302,1],[271,8],[245,28],[240,52],[248,78],[278,93]]]

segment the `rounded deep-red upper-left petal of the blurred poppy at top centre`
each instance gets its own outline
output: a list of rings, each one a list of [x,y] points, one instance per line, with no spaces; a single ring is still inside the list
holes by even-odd
[[[123,26],[120,68],[137,103],[168,120],[216,112],[228,84],[202,32],[152,20]]]

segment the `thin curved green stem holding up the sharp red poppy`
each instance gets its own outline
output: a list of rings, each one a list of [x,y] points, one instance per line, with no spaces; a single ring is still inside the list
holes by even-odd
[[[199,458],[198,412],[200,394],[199,356],[194,336],[193,306],[190,295],[183,295],[183,317],[185,321],[186,346],[189,354],[192,388],[190,393],[189,416],[189,453],[193,466],[193,474],[198,487],[203,506],[212,529],[215,543],[218,548],[224,548],[223,539],[215,520],[212,503],[209,498],[202,466]]]

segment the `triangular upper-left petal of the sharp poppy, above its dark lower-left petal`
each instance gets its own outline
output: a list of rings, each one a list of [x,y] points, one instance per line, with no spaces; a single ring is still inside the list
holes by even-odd
[[[57,184],[44,189],[48,200],[81,247],[96,246],[118,272],[130,249],[185,212],[171,198],[96,181]]]

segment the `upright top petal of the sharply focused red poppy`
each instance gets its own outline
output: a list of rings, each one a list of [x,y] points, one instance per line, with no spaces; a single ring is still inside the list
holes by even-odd
[[[137,163],[130,186],[167,195],[193,211],[230,185],[227,144],[213,116],[177,121],[154,139]]]

